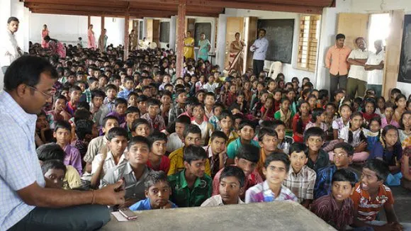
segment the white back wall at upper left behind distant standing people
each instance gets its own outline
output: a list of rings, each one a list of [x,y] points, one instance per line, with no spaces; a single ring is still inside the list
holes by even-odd
[[[114,19],[114,20],[113,20]],[[83,38],[83,45],[87,44],[87,16],[68,16],[43,13],[30,13],[29,39],[33,43],[41,42],[41,30],[47,24],[50,37],[62,43],[76,44],[77,38]],[[101,34],[101,17],[91,17],[96,42]],[[104,18],[107,29],[107,44],[117,46],[124,44],[124,18]]]

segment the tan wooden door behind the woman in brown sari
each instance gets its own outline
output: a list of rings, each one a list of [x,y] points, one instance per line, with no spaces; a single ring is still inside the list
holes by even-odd
[[[235,40],[235,33],[240,33],[241,40],[244,39],[244,18],[227,17],[227,27],[225,29],[225,62],[224,66],[228,67],[230,60],[230,45]],[[230,70],[228,70],[230,72]]]

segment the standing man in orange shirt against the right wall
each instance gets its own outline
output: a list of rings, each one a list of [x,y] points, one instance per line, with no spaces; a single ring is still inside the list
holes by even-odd
[[[330,97],[340,88],[347,88],[349,63],[347,58],[351,49],[344,46],[345,35],[335,36],[335,45],[330,47],[325,56],[325,67],[330,69]]]

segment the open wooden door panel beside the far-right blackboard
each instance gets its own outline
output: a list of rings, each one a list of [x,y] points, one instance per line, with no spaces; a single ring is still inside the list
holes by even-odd
[[[391,89],[397,86],[400,69],[402,43],[402,27],[404,26],[404,11],[390,11],[390,35],[385,47],[385,64],[383,77],[383,96],[389,98]]]

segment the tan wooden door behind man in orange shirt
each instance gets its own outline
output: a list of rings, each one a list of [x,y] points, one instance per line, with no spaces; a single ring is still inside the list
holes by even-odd
[[[355,40],[364,37],[368,41],[368,21],[370,16],[366,13],[339,13],[338,32],[345,35],[345,45],[356,49]]]

